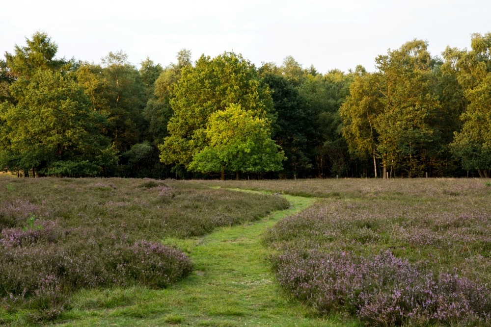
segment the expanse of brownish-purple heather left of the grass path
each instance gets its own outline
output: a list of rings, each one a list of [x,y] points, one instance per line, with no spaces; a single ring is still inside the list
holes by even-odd
[[[6,324],[16,315],[25,323],[54,320],[82,289],[166,288],[194,265],[165,238],[201,236],[288,204],[175,180],[0,178],[0,189]]]

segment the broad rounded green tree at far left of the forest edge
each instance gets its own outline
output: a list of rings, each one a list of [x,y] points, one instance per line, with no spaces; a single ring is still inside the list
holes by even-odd
[[[0,166],[46,174],[58,161],[95,161],[107,147],[97,127],[103,118],[69,77],[37,70],[10,90],[17,104],[0,106]]]

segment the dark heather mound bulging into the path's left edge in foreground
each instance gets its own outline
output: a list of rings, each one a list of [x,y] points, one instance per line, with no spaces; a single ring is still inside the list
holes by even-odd
[[[91,232],[102,235],[96,238]],[[82,235],[87,238],[81,249],[82,242],[70,238]],[[97,229],[76,230],[68,238],[58,244],[0,243],[0,303],[18,302],[19,307],[22,302],[21,306],[39,309],[42,316],[51,312],[55,318],[73,290],[134,284],[167,287],[192,271],[184,253],[160,243],[132,242],[125,235]]]

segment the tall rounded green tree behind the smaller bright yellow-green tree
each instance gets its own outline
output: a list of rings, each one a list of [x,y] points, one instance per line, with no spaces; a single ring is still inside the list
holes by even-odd
[[[274,123],[269,88],[241,55],[225,52],[213,59],[202,55],[194,67],[184,67],[181,74],[170,100],[169,136],[159,147],[162,162],[189,169],[194,155],[209,145],[206,129],[210,116],[231,104]]]

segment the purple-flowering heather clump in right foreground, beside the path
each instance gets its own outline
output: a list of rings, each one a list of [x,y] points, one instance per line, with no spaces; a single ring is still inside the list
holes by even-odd
[[[273,258],[282,288],[321,313],[343,311],[368,326],[491,322],[486,284],[454,274],[439,276],[390,251],[362,257],[318,250]]]

